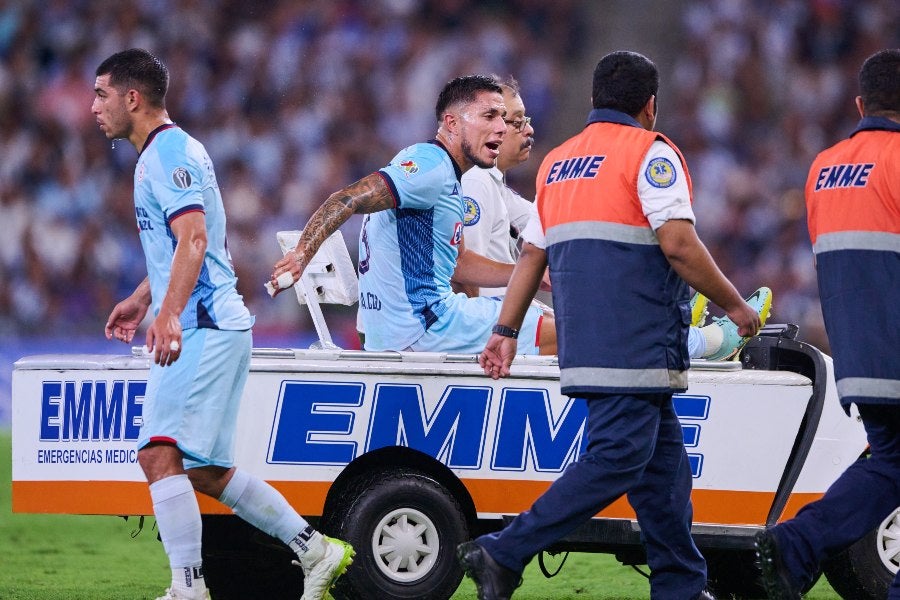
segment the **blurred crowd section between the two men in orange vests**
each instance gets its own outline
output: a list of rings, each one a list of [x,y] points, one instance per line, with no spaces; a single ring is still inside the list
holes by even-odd
[[[690,165],[700,237],[739,290],[772,288],[771,322],[828,350],[803,188],[816,154],[859,121],[863,61],[900,47],[900,3],[686,6],[660,121]]]

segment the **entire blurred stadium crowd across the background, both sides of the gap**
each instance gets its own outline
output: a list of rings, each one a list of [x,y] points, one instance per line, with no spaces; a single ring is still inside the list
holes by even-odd
[[[275,232],[432,137],[447,80],[513,74],[539,139],[574,133],[545,131],[573,93],[564,66],[586,60],[589,78],[599,58],[584,52],[604,4],[0,0],[0,336],[99,335],[146,274],[136,153],[90,113],[94,69],[113,52],[168,63],[169,113],[216,164],[239,290],[264,338],[311,329],[296,302],[263,289]],[[895,0],[690,0],[666,49],[660,128],[687,156],[701,237],[739,289],[774,290],[773,320],[823,347],[802,187],[815,153],[856,122],[862,60],[900,45],[898,13]],[[583,122],[587,98],[578,106]],[[533,192],[547,150],[513,187]],[[343,231],[355,258],[354,227]],[[352,344],[353,310],[337,316]]]

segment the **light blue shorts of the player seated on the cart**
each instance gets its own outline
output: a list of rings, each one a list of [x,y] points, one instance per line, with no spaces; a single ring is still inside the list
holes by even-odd
[[[416,352],[452,352],[478,354],[484,350],[491,328],[500,316],[502,298],[453,294],[447,299],[448,309],[425,335],[413,342],[409,349]],[[538,354],[538,333],[543,311],[532,304],[525,313],[519,329],[517,354]]]

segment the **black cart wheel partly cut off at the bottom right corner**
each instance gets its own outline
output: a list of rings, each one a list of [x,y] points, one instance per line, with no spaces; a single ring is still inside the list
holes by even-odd
[[[881,600],[887,597],[896,571],[889,569],[885,560],[894,569],[900,565],[896,554],[882,560],[880,552],[886,549],[886,541],[896,541],[898,532],[900,508],[858,542],[823,564],[828,583],[841,598]]]

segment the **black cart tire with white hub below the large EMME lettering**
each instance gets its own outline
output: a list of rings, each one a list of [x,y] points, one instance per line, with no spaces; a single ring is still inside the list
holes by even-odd
[[[362,483],[350,486],[323,524],[329,535],[356,549],[353,564],[332,590],[334,597],[450,598],[463,577],[456,546],[469,538],[465,514],[453,495],[418,472],[379,472]],[[389,532],[405,534],[400,541],[406,556],[376,551],[385,548]],[[412,552],[413,544],[420,552]]]

